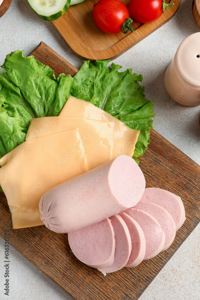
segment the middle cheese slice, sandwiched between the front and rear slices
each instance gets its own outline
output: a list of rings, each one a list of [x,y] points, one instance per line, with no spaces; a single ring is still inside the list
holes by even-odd
[[[31,120],[26,140],[73,128],[79,129],[89,170],[112,159],[114,122],[84,120],[72,117],[36,118]]]

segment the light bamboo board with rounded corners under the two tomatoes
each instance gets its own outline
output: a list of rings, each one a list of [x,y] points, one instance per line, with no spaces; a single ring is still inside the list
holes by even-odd
[[[95,23],[93,4],[97,1],[84,1],[81,4],[70,6],[63,16],[52,21],[72,51],[79,57],[92,61],[118,57],[168,22],[175,15],[181,3],[181,0],[174,0],[174,5],[152,23],[142,24],[134,21],[133,28],[136,30],[132,33],[120,32],[114,35],[103,32]],[[128,6],[130,0],[121,0],[121,2]]]

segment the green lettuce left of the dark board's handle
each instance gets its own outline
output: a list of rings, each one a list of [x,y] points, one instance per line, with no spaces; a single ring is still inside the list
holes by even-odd
[[[0,157],[25,142],[31,119],[58,116],[70,95],[88,100],[70,75],[55,78],[48,66],[25,57],[6,56],[0,76]]]

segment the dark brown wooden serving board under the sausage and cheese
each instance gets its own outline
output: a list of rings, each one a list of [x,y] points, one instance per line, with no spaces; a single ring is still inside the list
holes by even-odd
[[[41,43],[31,53],[55,74],[72,76],[77,69],[46,44]],[[160,187],[181,196],[186,217],[171,247],[155,258],[143,261],[136,268],[123,268],[104,277],[94,268],[79,262],[70,250],[67,234],[56,234],[45,226],[12,229],[6,198],[0,193],[0,235],[9,229],[10,243],[38,269],[48,275],[78,300],[138,299],[166,262],[176,252],[200,221],[200,166],[169,143],[156,131],[151,131],[151,144],[141,157],[147,187]],[[195,241],[194,241],[195,242]]]

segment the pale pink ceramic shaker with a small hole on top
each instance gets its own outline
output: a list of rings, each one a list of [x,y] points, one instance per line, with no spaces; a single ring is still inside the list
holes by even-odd
[[[200,104],[200,32],[180,44],[164,81],[166,91],[176,102],[188,106]]]

